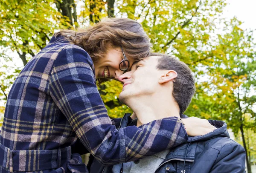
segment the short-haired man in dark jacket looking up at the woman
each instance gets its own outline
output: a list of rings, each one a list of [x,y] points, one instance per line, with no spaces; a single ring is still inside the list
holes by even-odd
[[[168,55],[137,62],[130,72],[119,77],[119,81],[124,83],[119,99],[134,111],[137,120],[132,121],[130,114],[125,114],[122,121],[117,121],[118,127],[139,127],[169,116],[186,118],[182,113],[195,93],[195,82],[189,67]],[[144,159],[108,167],[94,159],[90,170],[92,173],[245,172],[244,148],[229,138],[227,124],[223,121],[209,122],[218,129],[204,136],[189,137],[185,144],[172,150],[159,151]],[[166,141],[168,138],[163,135],[161,140]]]

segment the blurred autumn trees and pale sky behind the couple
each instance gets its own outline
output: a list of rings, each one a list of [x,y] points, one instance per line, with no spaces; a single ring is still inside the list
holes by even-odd
[[[195,75],[185,114],[218,119],[244,146],[247,172],[256,173],[255,0],[0,0],[0,126],[9,90],[30,58],[59,29],[105,17],[139,21],[154,52],[174,55]],[[111,118],[131,112],[118,100],[122,84],[99,86]]]

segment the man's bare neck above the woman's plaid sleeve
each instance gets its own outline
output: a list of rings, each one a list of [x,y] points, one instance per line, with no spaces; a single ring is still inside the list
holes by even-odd
[[[166,98],[166,96],[163,98]],[[131,104],[128,104],[128,106],[138,118],[137,127],[166,117],[176,116],[180,118],[178,104],[173,98],[164,100],[159,96],[154,98],[154,95],[152,95],[150,97],[129,99],[129,103]]]

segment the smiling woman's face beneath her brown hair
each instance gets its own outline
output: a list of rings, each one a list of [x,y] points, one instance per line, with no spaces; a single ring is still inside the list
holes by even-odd
[[[119,63],[124,59],[122,50],[120,47],[109,47],[107,49],[107,54],[104,58],[100,58],[96,63],[95,75],[96,78],[115,78],[118,79],[120,75],[124,72],[119,69]],[[129,69],[131,68],[131,64]]]

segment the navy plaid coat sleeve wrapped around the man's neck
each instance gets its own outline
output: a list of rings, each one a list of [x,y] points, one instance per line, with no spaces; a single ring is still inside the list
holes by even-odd
[[[79,46],[62,49],[52,67],[50,95],[87,150],[102,164],[113,165],[151,156],[187,141],[177,117],[138,128],[116,129],[95,83],[90,56]]]

